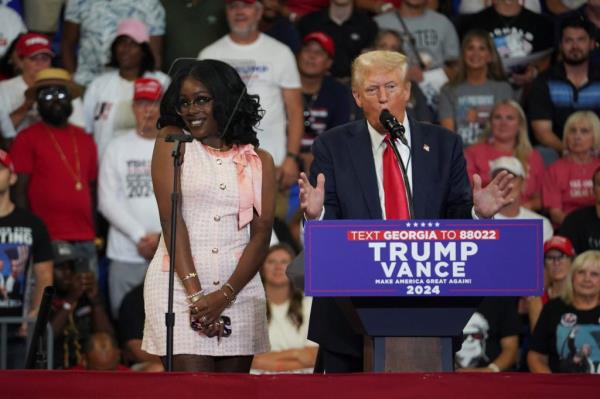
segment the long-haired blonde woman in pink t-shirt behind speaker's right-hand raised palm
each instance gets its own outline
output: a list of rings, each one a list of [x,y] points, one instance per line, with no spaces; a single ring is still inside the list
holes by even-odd
[[[492,180],[490,163],[502,156],[514,156],[526,173],[521,205],[531,210],[541,209],[544,161],[531,147],[523,109],[516,101],[499,101],[492,108],[489,124],[481,141],[465,149],[469,178],[477,173],[485,186]]]

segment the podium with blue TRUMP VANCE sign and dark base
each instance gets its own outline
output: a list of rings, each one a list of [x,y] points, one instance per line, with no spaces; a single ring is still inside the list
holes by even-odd
[[[484,296],[543,291],[540,220],[337,220],[305,229],[305,292],[364,335],[365,371],[452,371]]]

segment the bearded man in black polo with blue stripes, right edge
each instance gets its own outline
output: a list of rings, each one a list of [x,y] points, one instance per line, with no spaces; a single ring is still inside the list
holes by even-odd
[[[583,110],[600,115],[600,71],[589,62],[595,44],[588,22],[580,17],[565,19],[560,32],[562,62],[533,82],[527,108],[535,139],[562,153],[569,115]]]

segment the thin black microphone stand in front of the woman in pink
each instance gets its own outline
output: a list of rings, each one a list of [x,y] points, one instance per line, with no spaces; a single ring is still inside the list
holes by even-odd
[[[181,144],[189,143],[194,138],[184,134],[170,134],[165,139],[173,144],[173,191],[171,192],[171,241],[169,253],[169,292],[167,302],[167,313],[165,313],[165,325],[167,327],[167,361],[166,369],[173,371],[173,327],[175,326],[175,313],[173,313],[173,290],[175,288],[175,245],[177,243],[177,212],[179,203],[179,177],[181,175],[181,165],[183,157],[181,153]]]

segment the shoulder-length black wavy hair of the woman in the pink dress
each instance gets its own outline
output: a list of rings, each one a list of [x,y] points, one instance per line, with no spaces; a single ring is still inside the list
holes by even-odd
[[[225,144],[252,144],[258,147],[254,127],[264,114],[258,96],[247,93],[246,85],[233,67],[217,60],[193,61],[175,73],[160,103],[158,128],[186,127],[176,109],[181,85],[188,77],[202,82],[213,97],[213,117]]]

